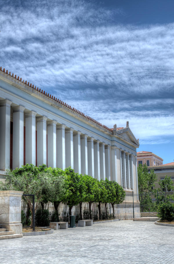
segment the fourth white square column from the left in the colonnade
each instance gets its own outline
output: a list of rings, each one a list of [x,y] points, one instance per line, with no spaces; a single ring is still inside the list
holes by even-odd
[[[37,167],[47,163],[46,149],[46,116],[36,117],[37,119]]]

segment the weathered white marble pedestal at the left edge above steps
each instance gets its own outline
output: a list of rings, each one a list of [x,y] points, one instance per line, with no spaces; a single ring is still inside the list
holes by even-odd
[[[22,234],[21,196],[19,191],[0,191],[0,225],[14,234]]]

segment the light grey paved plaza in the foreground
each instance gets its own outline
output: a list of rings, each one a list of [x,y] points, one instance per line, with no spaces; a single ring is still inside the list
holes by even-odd
[[[174,228],[118,221],[0,241],[0,263],[174,263]]]

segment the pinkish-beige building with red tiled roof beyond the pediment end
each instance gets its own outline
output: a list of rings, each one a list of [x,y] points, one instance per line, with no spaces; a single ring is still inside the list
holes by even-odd
[[[137,166],[139,164],[146,164],[150,166],[160,166],[163,163],[163,159],[149,151],[137,152]]]

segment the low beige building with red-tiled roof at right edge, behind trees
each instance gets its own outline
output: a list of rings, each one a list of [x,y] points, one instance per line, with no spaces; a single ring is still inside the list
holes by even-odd
[[[154,170],[155,174],[158,176],[157,182],[160,180],[163,180],[165,178],[165,175],[171,176],[171,179],[174,183],[174,162],[159,165],[159,166],[151,166],[148,167],[148,170]],[[155,188],[159,188],[159,184],[155,183]]]

